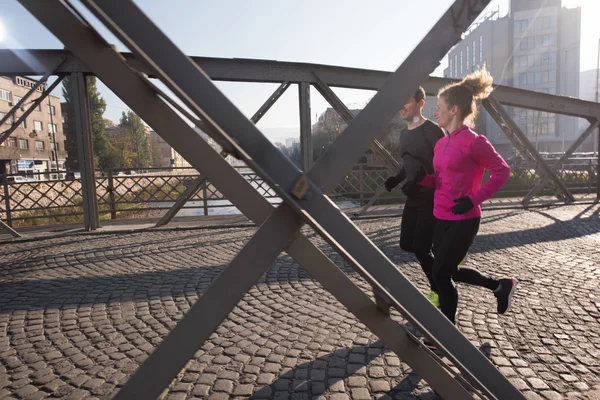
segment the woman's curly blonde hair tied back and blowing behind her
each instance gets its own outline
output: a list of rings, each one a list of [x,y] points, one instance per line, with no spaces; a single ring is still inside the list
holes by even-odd
[[[452,83],[438,92],[438,97],[443,97],[450,107],[457,106],[465,124],[471,128],[477,119],[477,105],[475,100],[485,99],[494,90],[494,78],[485,68],[485,65],[475,72],[467,75],[462,81]]]

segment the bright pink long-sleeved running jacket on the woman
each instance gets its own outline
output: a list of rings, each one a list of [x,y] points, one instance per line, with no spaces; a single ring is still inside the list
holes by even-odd
[[[496,194],[510,177],[510,167],[485,136],[466,125],[452,132],[433,149],[433,175],[420,182],[435,189],[433,215],[443,220],[463,220],[481,217],[480,204]],[[492,176],[481,185],[486,169]],[[462,215],[452,213],[454,199],[469,196],[475,208]]]

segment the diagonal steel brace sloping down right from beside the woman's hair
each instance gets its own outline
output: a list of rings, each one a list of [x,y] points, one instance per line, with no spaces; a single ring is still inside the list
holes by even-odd
[[[560,200],[565,200],[567,202],[575,201],[575,198],[571,192],[569,192],[569,189],[561,182],[554,171],[548,167],[548,164],[546,164],[544,159],[540,157],[540,154],[527,136],[523,134],[519,125],[511,118],[504,106],[495,99],[494,95],[490,95],[487,99],[483,100],[481,104],[496,121],[498,126],[506,133],[510,141],[519,148],[523,157],[527,159],[529,164],[542,179],[545,178],[549,180],[550,184],[554,187],[556,196]]]

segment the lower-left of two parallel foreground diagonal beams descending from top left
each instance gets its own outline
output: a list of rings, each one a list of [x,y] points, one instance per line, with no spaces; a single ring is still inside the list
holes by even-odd
[[[269,202],[220,158],[171,108],[164,104],[145,80],[127,68],[116,53],[106,48],[102,42],[99,42],[90,32],[90,29],[87,29],[80,21],[73,18],[58,1],[40,3],[36,0],[21,0],[21,3],[58,38],[66,42],[68,47],[73,48],[87,64],[94,65],[96,75],[132,109],[136,110],[159,134],[162,133],[163,138],[170,145],[182,155],[189,157],[189,160],[199,170],[206,168],[207,176],[242,212],[257,223],[267,219],[272,210]],[[169,133],[172,130],[179,132],[180,135],[170,135]],[[339,280],[342,276],[346,280],[348,278],[343,274],[340,275],[340,271],[337,270],[331,260],[315,248],[306,237],[296,236],[288,248],[288,252],[303,264],[309,263],[310,265],[307,266],[309,271],[313,268],[317,274],[327,274],[326,269],[332,269],[329,275],[333,274],[335,280],[330,281],[329,285],[339,287],[346,285],[346,282],[339,282]],[[209,290],[211,289],[209,288]],[[348,307],[357,315],[368,310],[365,308],[364,301],[362,304],[354,302]],[[414,343],[410,344],[405,337],[406,335],[399,334],[397,325],[393,328],[394,325],[390,325],[388,321],[386,325],[378,329],[372,321],[377,321],[377,319],[370,318],[365,323],[374,332],[380,332],[379,336],[384,340],[384,343],[397,351],[402,359],[414,359],[413,368],[415,372],[423,376],[432,386],[439,387],[440,393],[447,394],[449,397],[455,393],[457,394],[456,398],[464,398],[464,391],[461,391],[456,381],[448,379],[443,368],[440,368],[434,360],[431,360],[426,352],[415,348]],[[193,340],[199,340],[199,337],[194,335]],[[403,353],[404,350],[406,354]],[[167,358],[170,356],[171,354],[165,355]],[[156,352],[151,357],[156,357]],[[144,381],[143,384],[147,387],[152,386],[155,389],[157,387],[151,381]],[[155,398],[162,387],[158,389],[158,392],[154,392],[156,395],[147,398]],[[460,395],[461,393],[463,395]]]

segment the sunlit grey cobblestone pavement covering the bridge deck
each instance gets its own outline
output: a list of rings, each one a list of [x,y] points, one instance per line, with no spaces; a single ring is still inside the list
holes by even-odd
[[[520,280],[498,316],[459,286],[460,330],[530,399],[600,383],[600,206],[489,211],[467,263]],[[399,220],[357,222],[425,289]],[[108,398],[254,228],[79,235],[0,247],[0,398]],[[318,237],[352,279],[361,278]],[[332,295],[282,255],[164,393],[188,398],[434,399]]]

